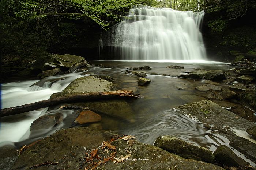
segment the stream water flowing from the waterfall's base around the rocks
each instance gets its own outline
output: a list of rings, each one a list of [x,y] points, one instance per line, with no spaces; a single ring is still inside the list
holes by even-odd
[[[94,67],[90,67],[86,72],[50,76],[40,81],[25,80],[4,83],[1,85],[1,106],[2,108],[8,108],[46,100],[50,98],[51,94],[61,92],[76,78],[88,75],[109,75],[116,79],[113,82],[116,90],[131,88],[142,95],[143,98],[127,100],[130,109],[133,111],[133,114],[129,115],[128,121],[102,115],[101,122],[85,124],[85,126],[95,130],[112,130],[120,134],[135,135],[138,141],[150,145],[153,145],[157,137],[170,135],[195,145],[207,147],[212,151],[219,146],[218,143],[208,137],[211,131],[207,130],[202,123],[189,119],[185,115],[180,115],[173,110],[173,107],[199,101],[204,95],[209,94],[209,92],[195,90],[196,86],[205,84],[206,80],[182,79],[175,77],[175,75],[193,71],[194,68],[227,70],[230,66],[227,66],[226,63],[193,63],[191,61],[185,63],[183,61],[181,64],[171,62],[91,61],[90,64],[94,64]],[[182,65],[184,69],[166,68],[169,65]],[[150,66],[151,70],[146,70],[148,73],[156,72],[174,76],[148,74],[147,78],[151,79],[152,82],[148,86],[138,86],[137,76],[125,74],[125,70],[130,67],[140,66]],[[36,85],[33,85],[35,83]],[[219,86],[227,89],[229,84],[221,83]],[[182,89],[179,90],[177,87]],[[1,118],[0,146],[14,145],[20,147],[46,137],[61,128],[73,127],[74,111],[60,110],[59,106],[49,111],[46,110],[47,108],[42,108]],[[59,126],[30,133],[30,125],[38,117],[46,114],[55,114],[60,111],[64,115],[64,120]],[[122,111],[125,112],[125,110]],[[120,115],[122,114],[120,112]],[[222,140],[222,142],[225,143],[225,140]],[[238,152],[238,154],[240,153]],[[246,161],[248,160],[246,159]],[[255,166],[254,163],[251,163],[251,165]]]

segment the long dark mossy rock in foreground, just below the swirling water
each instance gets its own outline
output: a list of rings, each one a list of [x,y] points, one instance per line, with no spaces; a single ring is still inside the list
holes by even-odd
[[[192,145],[175,137],[158,137],[154,146],[187,159],[195,159],[203,162],[212,162],[214,160],[214,156],[209,149]]]

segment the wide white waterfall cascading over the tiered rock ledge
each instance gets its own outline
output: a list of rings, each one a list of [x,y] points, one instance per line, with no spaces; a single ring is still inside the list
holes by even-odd
[[[114,25],[100,46],[112,46],[115,60],[204,60],[199,31],[204,11],[175,11],[137,5]]]

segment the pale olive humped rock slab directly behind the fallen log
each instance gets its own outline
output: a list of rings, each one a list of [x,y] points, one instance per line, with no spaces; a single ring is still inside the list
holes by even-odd
[[[114,84],[104,79],[95,78],[94,76],[86,76],[75,79],[62,92],[64,94],[70,94],[101,91],[114,91]]]

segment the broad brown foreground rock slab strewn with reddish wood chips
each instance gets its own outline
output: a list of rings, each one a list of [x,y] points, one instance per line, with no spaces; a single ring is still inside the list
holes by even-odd
[[[109,131],[93,131],[86,127],[70,128],[60,130],[57,133],[42,139],[26,149],[19,157],[12,169],[29,169],[36,164],[45,161],[58,162],[56,165],[39,166],[37,169],[92,169],[96,164],[99,168],[120,170],[120,169],[203,169],[219,170],[217,165],[204,163],[193,159],[184,159],[178,155],[169,153],[155,146],[146,145],[133,139],[132,146],[127,145],[127,141],[118,139],[122,135],[110,133]],[[112,139],[113,138],[113,139]],[[95,152],[95,157],[87,162],[90,157],[90,149],[96,149],[102,145],[103,141],[109,142],[115,150],[105,147]],[[109,146],[109,145],[108,145]],[[109,146],[109,147],[111,147]],[[86,151],[87,149],[88,151]],[[116,152],[116,153],[114,153]],[[88,153],[89,155],[87,155]],[[129,155],[126,159],[118,163],[118,158]],[[103,162],[103,158],[109,158]],[[120,160],[120,159],[119,159]],[[114,161],[115,163],[113,163]]]

